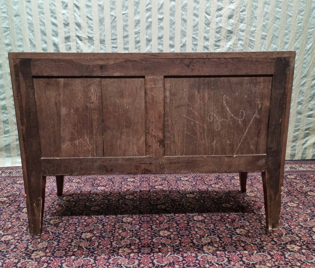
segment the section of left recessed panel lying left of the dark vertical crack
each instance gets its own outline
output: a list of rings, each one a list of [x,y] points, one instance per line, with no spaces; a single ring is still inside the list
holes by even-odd
[[[99,78],[35,78],[42,157],[103,156]]]

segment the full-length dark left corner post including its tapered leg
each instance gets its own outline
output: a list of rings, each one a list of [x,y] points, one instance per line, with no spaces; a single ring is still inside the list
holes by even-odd
[[[21,160],[30,235],[43,231],[46,177],[42,175],[41,151],[35,105],[31,60],[16,60],[14,69],[14,104],[20,131]]]

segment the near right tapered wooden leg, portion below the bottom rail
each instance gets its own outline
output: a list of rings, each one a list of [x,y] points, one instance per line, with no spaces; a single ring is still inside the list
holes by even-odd
[[[280,176],[261,172],[264,189],[266,227],[268,230],[279,228],[283,180]]]

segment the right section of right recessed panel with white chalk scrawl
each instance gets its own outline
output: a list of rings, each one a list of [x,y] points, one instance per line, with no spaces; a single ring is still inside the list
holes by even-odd
[[[272,77],[214,79],[213,154],[265,154]]]

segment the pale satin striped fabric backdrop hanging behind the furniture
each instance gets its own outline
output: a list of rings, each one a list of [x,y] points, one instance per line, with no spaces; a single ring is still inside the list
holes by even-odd
[[[7,53],[296,50],[286,159],[315,158],[315,1],[0,0],[0,166],[20,165]]]

